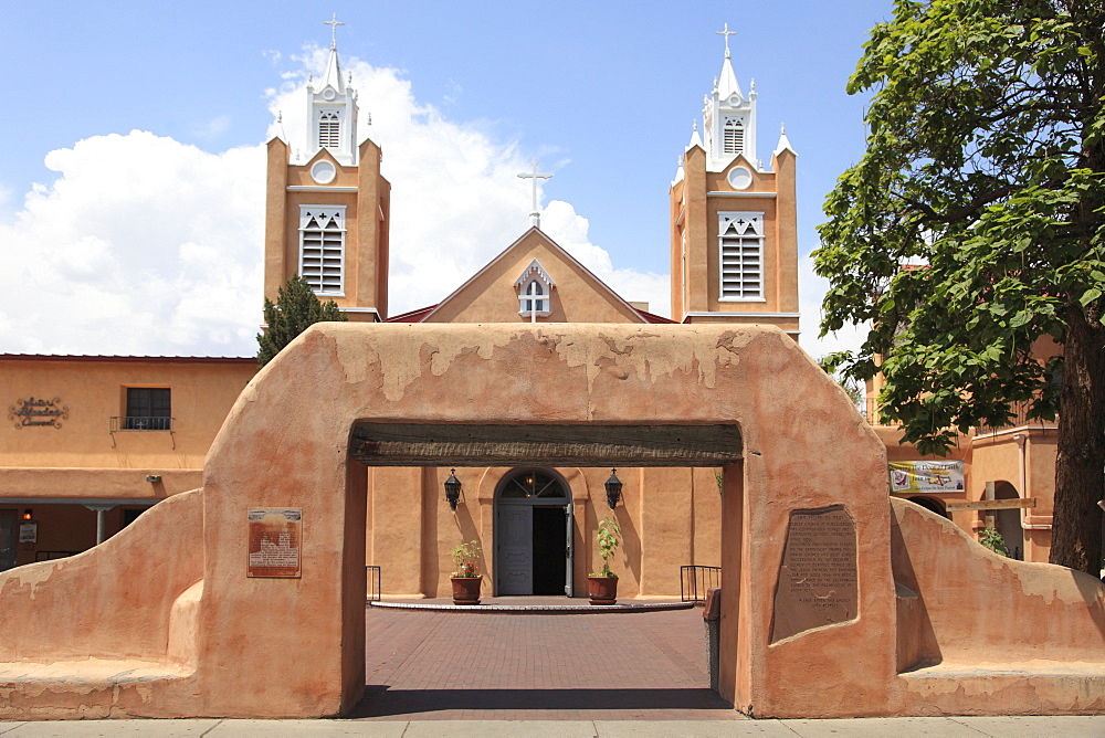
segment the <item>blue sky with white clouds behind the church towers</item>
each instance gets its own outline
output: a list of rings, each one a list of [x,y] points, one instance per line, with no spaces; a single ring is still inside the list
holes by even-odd
[[[51,289],[65,295],[57,315],[29,304],[36,299],[33,292],[0,297],[0,351],[253,352],[257,316],[245,315],[236,326],[223,323],[227,313],[257,309],[257,271],[250,254],[255,252],[260,263],[260,240],[234,252],[238,293],[231,294],[228,281],[214,301],[218,309],[196,307],[212,278],[189,276],[188,264],[203,263],[206,250],[228,251],[218,242],[218,228],[204,232],[197,224],[196,209],[223,222],[241,218],[239,241],[259,238],[261,212],[250,214],[257,209],[250,171],[257,166],[273,110],[292,105],[295,85],[328,46],[323,21],[333,12],[346,23],[337,32],[338,49],[346,68],[355,72],[361,116],[372,115],[369,135],[378,138],[380,131],[389,139],[381,141],[385,175],[396,184],[396,198],[410,203],[394,213],[397,219],[417,219],[442,199],[463,201],[449,186],[460,181],[463,189],[463,178],[453,175],[465,167],[498,181],[536,156],[544,170],[555,173],[544,186],[543,202],[562,203],[564,218],[549,218],[571,231],[554,238],[560,235],[566,246],[578,242],[585,263],[589,254],[606,264],[609,274],[600,264],[600,276],[628,299],[656,303],[669,268],[667,189],[692,120],[701,119],[703,95],[720,68],[724,44],[715,32],[726,22],[737,31],[730,42],[737,76],[746,88],[749,78],[756,80],[759,156],[769,159],[780,123],[799,154],[799,245],[806,256],[817,246],[814,226],[823,220],[825,193],[862,154],[864,101],[845,95],[844,84],[867,31],[890,17],[891,3],[0,3],[0,63],[9,70],[9,104],[0,108],[8,144],[0,148],[0,254],[6,261],[20,257],[24,277],[45,289],[38,299],[46,299]],[[387,80],[369,84],[380,71]],[[370,89],[380,91],[378,99]],[[398,126],[400,113],[392,103],[400,94],[424,136],[406,138]],[[136,137],[133,130],[149,136]],[[421,146],[442,131],[473,141],[481,151],[477,160],[457,150],[436,159],[433,151],[418,158],[396,150]],[[44,159],[56,150],[62,154],[48,167]],[[396,171],[389,171],[392,160]],[[166,188],[164,202],[154,201],[151,188],[139,184],[143,167],[162,167],[168,180],[190,179]],[[234,169],[221,175],[220,167]],[[435,167],[453,175],[434,178]],[[97,171],[105,172],[104,181],[123,182],[124,191],[126,182],[140,188],[131,198],[133,211],[122,194],[97,200],[104,197],[95,192]],[[411,178],[400,181],[404,171]],[[263,177],[263,171],[253,173],[259,181]],[[243,214],[231,209],[232,194],[214,204],[190,200],[198,177],[223,180],[223,186],[241,178],[240,191],[251,193],[239,202]],[[512,193],[503,202],[519,184],[502,183]],[[88,193],[78,196],[81,187]],[[191,211],[173,215],[175,205]],[[486,219],[472,207],[446,219],[456,239],[449,246],[450,259],[455,256],[452,270],[478,266],[524,231],[528,197],[522,198],[516,218],[513,204],[502,207],[498,230],[481,225]],[[128,252],[126,239],[162,208],[169,214],[149,224],[145,245],[154,255]],[[180,243],[171,233],[155,238],[158,226],[175,217],[187,223],[188,238]],[[250,218],[255,221],[244,223]],[[402,235],[402,226],[396,226]],[[397,267],[407,273],[397,276],[401,288],[392,313],[435,302],[470,274],[419,272],[420,259],[441,261],[420,247],[392,241],[393,250],[409,250],[403,252],[409,263],[400,260]],[[28,252],[45,254],[49,263],[35,263]],[[133,271],[139,268],[134,264],[140,270]],[[105,280],[112,270],[117,273]],[[811,340],[823,287],[806,272],[802,342],[821,354],[835,344]],[[193,292],[138,316],[143,305],[118,293],[143,275],[152,275],[160,292]],[[97,305],[84,310],[81,299]],[[139,303],[160,299],[154,295]],[[75,312],[90,316],[80,330],[72,325]],[[176,338],[159,335],[166,324],[179,329]]]

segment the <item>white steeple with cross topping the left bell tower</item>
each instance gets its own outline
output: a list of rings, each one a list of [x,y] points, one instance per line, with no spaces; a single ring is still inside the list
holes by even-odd
[[[308,157],[318,149],[327,149],[339,164],[357,164],[357,91],[341,78],[338,62],[337,13],[323,21],[330,27],[330,55],[326,72],[319,82],[307,82],[307,141],[304,150]]]

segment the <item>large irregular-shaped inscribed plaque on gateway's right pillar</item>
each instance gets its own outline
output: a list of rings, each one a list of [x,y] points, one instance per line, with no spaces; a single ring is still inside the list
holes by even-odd
[[[843,505],[792,510],[775,590],[771,643],[854,620],[855,523]]]

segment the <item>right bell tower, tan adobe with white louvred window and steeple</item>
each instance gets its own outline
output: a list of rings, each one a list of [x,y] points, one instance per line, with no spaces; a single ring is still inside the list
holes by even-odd
[[[678,159],[671,204],[672,318],[777,325],[798,338],[794,150],[786,133],[765,168],[756,154],[756,83],[725,59]]]

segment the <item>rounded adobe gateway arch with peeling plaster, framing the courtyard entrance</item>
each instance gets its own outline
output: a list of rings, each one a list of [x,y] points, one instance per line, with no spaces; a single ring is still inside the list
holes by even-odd
[[[758,715],[884,709],[894,675],[885,457],[783,333],[319,324],[251,382],[207,460],[197,714],[328,715],[359,698],[365,514],[348,460],[358,420],[737,423],[746,455],[726,473],[723,688]],[[769,646],[781,531],[791,510],[828,505],[855,524],[860,615]],[[303,509],[301,579],[245,577],[246,514],[261,507]]]

